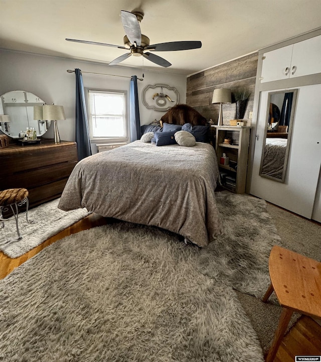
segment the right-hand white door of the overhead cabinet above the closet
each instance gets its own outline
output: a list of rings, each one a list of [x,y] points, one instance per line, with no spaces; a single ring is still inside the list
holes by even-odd
[[[320,59],[321,35],[295,43],[293,45],[290,77],[321,73]]]

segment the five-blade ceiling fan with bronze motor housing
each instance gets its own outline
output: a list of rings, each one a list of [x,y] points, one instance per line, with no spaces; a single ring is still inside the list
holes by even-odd
[[[200,41],[168,42],[149,45],[149,38],[146,35],[141,34],[140,32],[139,23],[141,22],[143,16],[144,14],[142,12],[130,13],[124,10],[121,11],[121,22],[126,34],[124,36],[124,46],[77,39],[66,38],[66,40],[69,42],[103,45],[106,47],[127,49],[130,51],[129,53],[125,53],[120,57],[114,59],[109,63],[109,65],[120,63],[123,60],[127,59],[129,56],[134,55],[143,56],[144,58],[150,60],[155,64],[161,65],[162,67],[169,67],[172,64],[166,59],[159,57],[158,55],[155,55],[153,53],[146,52],[146,50],[150,50],[151,52],[168,52],[176,50],[197,49],[202,47],[202,43]]]

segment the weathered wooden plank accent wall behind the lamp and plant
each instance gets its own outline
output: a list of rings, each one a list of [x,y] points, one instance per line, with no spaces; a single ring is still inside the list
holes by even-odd
[[[232,103],[223,104],[223,123],[229,125],[235,119],[236,103],[233,91],[246,87],[251,91],[244,120],[250,126],[249,112],[253,110],[258,53],[253,53],[228,63],[204,70],[187,78],[186,103],[197,109],[207,120],[213,119],[217,125],[220,105],[212,104],[215,88],[231,88]]]

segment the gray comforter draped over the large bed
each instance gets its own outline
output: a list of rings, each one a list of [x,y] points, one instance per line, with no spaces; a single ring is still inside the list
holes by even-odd
[[[220,233],[214,189],[218,165],[209,144],[156,147],[135,141],[81,160],[58,207],[174,231],[205,247]]]

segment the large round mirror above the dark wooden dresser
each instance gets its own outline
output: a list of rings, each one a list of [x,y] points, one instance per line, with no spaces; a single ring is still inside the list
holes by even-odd
[[[37,137],[47,132],[50,121],[34,119],[34,106],[45,104],[37,95],[25,90],[14,90],[1,96],[0,130],[6,135],[18,139],[21,132],[34,128]]]

